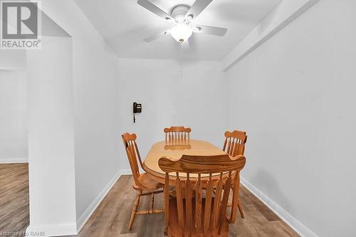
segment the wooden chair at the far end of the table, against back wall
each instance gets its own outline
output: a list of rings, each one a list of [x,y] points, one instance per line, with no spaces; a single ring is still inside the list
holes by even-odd
[[[190,127],[166,127],[164,128],[167,144],[189,144],[189,134],[192,132]]]

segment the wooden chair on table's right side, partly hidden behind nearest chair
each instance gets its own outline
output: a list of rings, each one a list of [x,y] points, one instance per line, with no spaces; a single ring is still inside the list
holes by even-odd
[[[234,130],[234,132],[225,132],[224,152],[236,157],[237,155],[244,155],[245,144],[247,141],[246,132]],[[238,207],[241,217],[244,218],[244,210],[242,209],[241,201],[238,201]]]

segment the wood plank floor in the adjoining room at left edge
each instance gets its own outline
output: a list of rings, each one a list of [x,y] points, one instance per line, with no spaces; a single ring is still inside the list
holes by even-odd
[[[28,164],[0,164],[0,236],[24,236],[28,223]]]

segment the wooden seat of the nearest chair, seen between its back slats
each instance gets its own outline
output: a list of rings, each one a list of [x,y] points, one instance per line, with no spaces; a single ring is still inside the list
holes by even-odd
[[[214,198],[213,198],[214,203]],[[204,209],[205,209],[205,199],[201,199],[201,216],[204,216]],[[192,199],[192,210],[195,210],[195,199]],[[183,201],[183,212],[184,212],[184,222],[186,219],[186,210],[185,210],[185,201]],[[209,229],[204,233],[204,218],[201,218],[201,228],[195,227],[195,212],[192,211],[192,236],[228,236],[229,235],[229,223],[227,222],[226,218],[224,218],[223,226],[221,228],[221,235],[218,234],[218,229],[213,228]],[[212,220],[210,220],[209,228],[211,228]],[[180,236],[189,236],[189,230],[187,228],[187,224],[184,224],[184,228],[179,226],[178,222],[178,210],[177,210],[177,199],[174,197],[169,199],[169,225],[168,225],[168,233],[169,236],[180,237]]]

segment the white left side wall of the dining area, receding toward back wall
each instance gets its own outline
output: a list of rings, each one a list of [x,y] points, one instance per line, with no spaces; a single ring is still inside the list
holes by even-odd
[[[79,228],[120,170],[117,58],[74,1],[43,1],[42,9],[73,41],[75,196]]]

